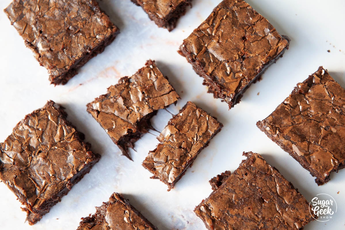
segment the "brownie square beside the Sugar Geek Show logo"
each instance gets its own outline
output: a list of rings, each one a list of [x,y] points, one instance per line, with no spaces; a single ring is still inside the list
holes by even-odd
[[[209,230],[303,229],[314,220],[309,203],[257,153],[228,174],[194,210]]]

